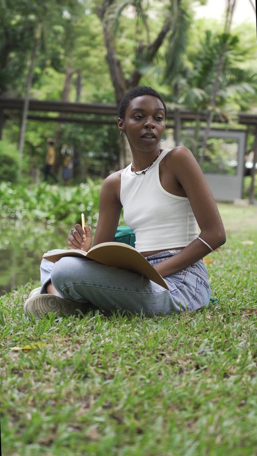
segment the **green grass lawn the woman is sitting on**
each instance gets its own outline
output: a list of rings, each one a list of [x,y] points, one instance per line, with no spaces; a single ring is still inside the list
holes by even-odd
[[[256,454],[257,207],[219,210],[207,309],[35,322],[23,303],[39,284],[0,298],[3,456]]]

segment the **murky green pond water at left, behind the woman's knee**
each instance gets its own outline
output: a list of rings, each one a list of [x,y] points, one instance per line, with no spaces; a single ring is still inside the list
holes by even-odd
[[[8,225],[8,229],[6,226]],[[39,266],[43,253],[65,249],[71,227],[13,222],[1,227],[0,295],[28,282],[40,284]]]

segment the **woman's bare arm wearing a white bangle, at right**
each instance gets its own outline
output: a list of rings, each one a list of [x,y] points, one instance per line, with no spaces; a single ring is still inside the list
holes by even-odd
[[[200,228],[199,237],[212,250],[226,242],[225,229],[219,215],[211,190],[204,174],[193,154],[185,147],[177,147],[167,156],[166,167],[172,170],[177,182],[185,191],[197,224]],[[210,249],[199,239],[195,239],[177,255],[155,266],[164,277],[173,274],[203,258]]]

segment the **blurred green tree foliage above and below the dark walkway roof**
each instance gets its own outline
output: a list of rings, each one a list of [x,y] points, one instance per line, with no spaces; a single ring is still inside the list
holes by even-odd
[[[194,2],[199,4],[204,2]],[[43,4],[32,0],[0,3],[0,95],[24,97],[31,53],[38,26],[42,33],[30,89],[39,100],[116,103],[114,81],[106,60],[106,30],[124,81],[135,72],[141,85],[156,87],[169,108],[210,109],[217,66],[222,56],[223,72],[218,76],[215,112],[235,123],[239,111],[256,106],[257,55],[254,24],[225,28],[221,21],[198,19],[188,0],[122,1],[58,0]],[[175,17],[156,55],[150,59],[161,24]],[[141,49],[141,52],[140,52]],[[146,52],[146,50],[148,51]],[[205,127],[203,123],[194,127]],[[17,146],[20,126],[13,112],[7,113],[3,140]],[[176,132],[174,132],[175,134]],[[74,149],[74,183],[87,175],[106,176],[119,163],[117,128],[28,121],[26,125],[22,176],[25,181],[43,179],[46,139],[56,139],[56,173],[61,182],[61,146]],[[253,147],[253,131],[248,134],[247,151]],[[6,143],[5,143],[6,144]],[[198,143],[197,143],[198,144]],[[5,145],[4,145],[5,147]],[[3,149],[3,147],[2,147]],[[195,147],[198,158],[201,146]],[[8,162],[9,158],[6,157]],[[8,162],[9,163],[9,162]],[[13,159],[12,167],[19,166]],[[0,176],[2,180],[10,180]],[[12,177],[12,180],[14,177]]]

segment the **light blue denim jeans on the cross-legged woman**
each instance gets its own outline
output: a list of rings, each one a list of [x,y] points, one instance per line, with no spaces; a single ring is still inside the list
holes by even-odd
[[[51,250],[58,251],[58,250]],[[146,257],[152,264],[166,260],[179,250]],[[42,260],[42,293],[51,281],[59,295],[85,304],[87,308],[147,316],[179,313],[208,306],[210,285],[203,260],[164,277],[169,290],[135,272],[106,266],[90,259],[66,256],[56,263]]]

